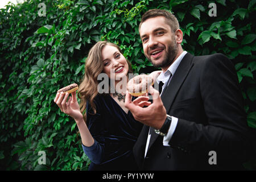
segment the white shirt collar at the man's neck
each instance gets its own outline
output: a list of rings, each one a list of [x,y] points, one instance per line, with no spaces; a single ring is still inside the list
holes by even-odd
[[[172,63],[170,65],[170,67],[167,69],[166,72],[161,72],[160,75],[158,76],[158,78],[156,78],[156,82],[162,81],[164,84],[166,83],[166,81],[169,80],[170,75],[174,75],[174,73],[176,72],[177,67],[179,67],[180,61],[183,59],[183,57],[185,56],[185,54],[187,53],[187,51],[183,51],[179,57],[177,57],[177,59],[174,61],[174,63]]]

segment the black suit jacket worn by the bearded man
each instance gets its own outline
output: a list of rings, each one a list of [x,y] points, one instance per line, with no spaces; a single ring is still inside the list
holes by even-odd
[[[187,53],[162,93],[169,115],[178,118],[170,140],[151,135],[146,158],[148,126],[143,126],[133,148],[144,170],[243,169],[250,150],[249,127],[233,63],[224,55]],[[216,152],[217,164],[209,164]]]

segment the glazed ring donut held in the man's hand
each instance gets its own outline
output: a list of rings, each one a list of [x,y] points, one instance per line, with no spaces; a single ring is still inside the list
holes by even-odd
[[[132,96],[138,97],[147,93],[147,89],[153,84],[153,77],[148,75],[138,75],[129,80],[127,83],[127,90]]]

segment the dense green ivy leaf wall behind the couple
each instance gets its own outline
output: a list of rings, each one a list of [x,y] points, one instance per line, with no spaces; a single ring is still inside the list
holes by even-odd
[[[46,5],[43,16],[39,3]],[[210,16],[210,3],[216,5],[216,16]],[[135,73],[155,71],[143,55],[138,32],[141,15],[154,8],[176,15],[184,50],[223,53],[233,61],[247,123],[255,130],[255,5],[255,0],[28,0],[7,5],[0,10],[0,168],[88,169],[75,121],[53,102],[56,90],[80,82],[89,49],[99,40],[118,44]],[[45,165],[38,163],[39,151],[46,152]],[[245,168],[256,169],[255,158]]]

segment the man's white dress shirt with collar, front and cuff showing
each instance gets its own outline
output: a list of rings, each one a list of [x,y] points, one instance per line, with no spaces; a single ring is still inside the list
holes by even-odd
[[[170,65],[170,67],[167,69],[166,72],[162,72],[160,73],[160,75],[158,76],[158,78],[156,78],[156,82],[159,82],[162,81],[163,82],[163,88],[162,88],[162,93],[164,92],[164,89],[166,88],[166,86],[169,85],[170,81],[171,81],[171,78],[170,76],[174,75],[177,67],[179,67],[179,64],[180,64],[180,61],[183,59],[183,57],[185,56],[185,54],[187,53],[187,51],[183,51],[179,57],[177,57],[177,59],[174,61],[174,63],[172,63]],[[170,78],[170,79],[169,79]],[[161,94],[162,94],[161,93]],[[161,96],[160,94],[160,96]],[[172,137],[172,134],[174,134],[174,131],[176,129],[176,126],[177,126],[177,122],[178,122],[178,119],[171,116],[172,117],[172,122],[171,122],[171,126],[168,130],[168,133],[166,136],[163,137],[163,145],[164,146],[170,146],[168,143],[170,142],[171,140],[171,137]],[[145,155],[144,157],[146,157],[147,155],[147,149],[148,149],[148,144],[150,143],[150,133],[148,132],[148,137],[147,137],[147,144],[146,144],[146,148],[145,148]]]

